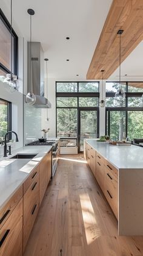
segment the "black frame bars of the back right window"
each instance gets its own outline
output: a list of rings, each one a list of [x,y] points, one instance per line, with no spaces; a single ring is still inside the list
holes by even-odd
[[[116,83],[119,84],[119,81],[106,81],[108,83]],[[122,81],[121,83],[125,83],[125,107],[105,107],[105,134],[110,136],[110,112],[111,111],[125,111],[125,137],[128,136],[128,111],[143,111],[143,107],[128,107],[128,98],[136,98],[142,97],[142,92],[128,92],[128,84],[130,83],[139,83],[138,81]],[[141,81],[140,81],[141,82]],[[105,98],[114,98],[116,92],[105,92]],[[107,120],[108,118],[108,120]],[[108,127],[107,127],[108,126]],[[108,130],[108,132],[107,132]],[[108,133],[108,134],[107,134]]]

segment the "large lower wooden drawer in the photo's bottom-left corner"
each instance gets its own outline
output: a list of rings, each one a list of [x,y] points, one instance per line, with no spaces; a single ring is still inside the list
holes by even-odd
[[[0,255],[22,256],[22,199],[0,230]]]

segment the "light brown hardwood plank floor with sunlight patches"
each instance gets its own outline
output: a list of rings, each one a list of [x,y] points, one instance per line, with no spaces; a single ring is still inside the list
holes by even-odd
[[[143,236],[118,236],[116,218],[82,155],[61,155],[47,188],[24,254],[41,255],[143,255]]]

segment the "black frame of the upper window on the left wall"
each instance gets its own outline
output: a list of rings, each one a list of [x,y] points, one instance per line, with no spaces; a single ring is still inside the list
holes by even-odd
[[[1,8],[0,8],[0,19],[2,21],[2,23],[4,23],[5,27],[7,27],[8,31],[10,32],[10,23],[9,21],[7,20],[6,16],[4,15],[4,13],[2,12]],[[16,76],[18,76],[18,36],[16,35],[15,33],[15,30],[12,28],[12,35],[13,35],[13,38],[14,38],[14,52],[13,52],[13,56],[14,56],[14,74]],[[4,66],[1,62],[0,62],[0,69],[2,71],[4,71],[4,73],[10,73],[10,70]]]

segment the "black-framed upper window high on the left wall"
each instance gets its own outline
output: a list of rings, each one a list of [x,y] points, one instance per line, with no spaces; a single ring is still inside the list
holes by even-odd
[[[12,29],[12,72],[18,76],[18,36]],[[11,70],[10,23],[0,9],[0,76]]]

